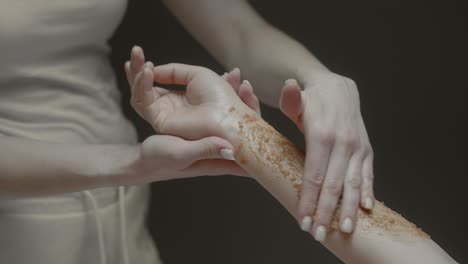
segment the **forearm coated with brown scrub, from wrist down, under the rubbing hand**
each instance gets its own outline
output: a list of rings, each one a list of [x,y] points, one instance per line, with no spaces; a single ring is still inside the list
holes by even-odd
[[[294,215],[304,174],[304,152],[253,112],[228,108],[236,161]],[[229,134],[229,133],[227,133]],[[323,242],[345,263],[456,263],[416,225],[376,202],[359,209],[355,231],[339,232],[339,208]]]

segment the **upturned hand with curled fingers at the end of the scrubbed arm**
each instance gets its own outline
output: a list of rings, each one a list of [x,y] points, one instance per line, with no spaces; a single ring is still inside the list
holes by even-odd
[[[260,114],[258,99],[248,81],[240,82],[235,69],[222,77],[203,67],[191,67],[191,74],[174,70],[177,64],[158,66],[144,61],[139,47],[132,50],[131,61],[125,64],[127,79],[132,87],[131,103],[140,116],[162,133],[185,139],[222,136],[219,124],[226,115],[219,111],[226,102],[239,98]],[[196,72],[196,74],[194,74]],[[153,87],[162,84],[187,85],[185,92]],[[238,93],[238,94],[237,94]]]

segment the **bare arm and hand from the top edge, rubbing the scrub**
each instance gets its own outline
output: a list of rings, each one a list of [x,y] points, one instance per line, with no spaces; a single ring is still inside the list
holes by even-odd
[[[246,0],[163,2],[221,64],[242,69],[258,98],[304,133],[304,184],[295,213],[301,228],[314,235],[327,230],[343,196],[340,228],[352,232],[359,206],[374,205],[373,151],[356,84],[327,69]]]

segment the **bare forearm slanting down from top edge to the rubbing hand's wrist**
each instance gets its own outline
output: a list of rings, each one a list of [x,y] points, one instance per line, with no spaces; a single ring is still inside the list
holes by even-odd
[[[306,82],[313,81],[315,73],[329,73],[302,44],[271,26],[245,0],[163,2],[227,69],[242,69],[258,97],[271,106],[278,106],[286,79]]]

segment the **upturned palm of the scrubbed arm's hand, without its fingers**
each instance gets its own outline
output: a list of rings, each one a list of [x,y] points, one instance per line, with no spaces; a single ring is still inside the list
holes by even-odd
[[[232,91],[228,85],[214,73],[203,72],[189,82],[186,92],[154,87],[155,99],[145,107],[145,119],[162,134],[186,139],[216,135],[221,118],[216,109],[226,103],[226,91]]]

